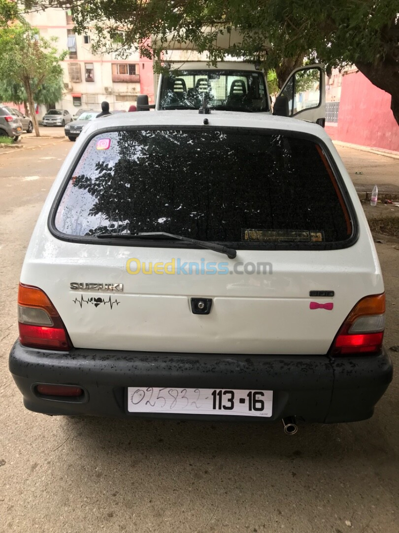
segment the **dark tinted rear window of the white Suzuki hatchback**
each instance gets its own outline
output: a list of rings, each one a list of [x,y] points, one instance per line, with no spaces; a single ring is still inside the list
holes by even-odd
[[[352,234],[318,144],[204,126],[95,136],[66,185],[55,227],[76,237],[165,231],[242,248]]]

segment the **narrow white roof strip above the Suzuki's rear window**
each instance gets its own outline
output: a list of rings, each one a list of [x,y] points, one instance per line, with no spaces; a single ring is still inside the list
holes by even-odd
[[[269,113],[245,113],[240,111],[213,111],[210,115],[200,115],[198,110],[136,111],[118,113],[91,120],[86,128],[88,135],[104,128],[123,128],[123,126],[204,126],[207,119],[210,126],[245,127],[307,133],[322,139],[329,139],[324,128],[318,124],[296,118],[273,116]]]

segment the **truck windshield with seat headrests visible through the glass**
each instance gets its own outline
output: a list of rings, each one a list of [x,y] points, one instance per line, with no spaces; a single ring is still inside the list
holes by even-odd
[[[162,75],[160,109],[211,109],[265,112],[269,101],[260,72],[178,70]]]

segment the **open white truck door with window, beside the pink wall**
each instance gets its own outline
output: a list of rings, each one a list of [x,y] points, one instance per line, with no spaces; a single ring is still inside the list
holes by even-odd
[[[282,98],[280,98],[282,96]],[[279,92],[274,114],[314,122],[324,126],[326,122],[326,77],[322,64],[298,67],[291,72]],[[281,103],[285,103],[281,111]],[[279,110],[278,110],[279,108]]]

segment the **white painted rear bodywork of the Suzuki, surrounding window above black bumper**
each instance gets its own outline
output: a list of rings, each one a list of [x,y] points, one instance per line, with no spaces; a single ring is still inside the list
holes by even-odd
[[[358,217],[359,238],[330,251],[238,250],[237,257],[208,249],[81,244],[48,229],[54,198],[88,137],[106,127],[198,126],[197,111],[110,116],[90,122],[66,157],[41,211],[24,260],[21,282],[39,287],[59,311],[77,348],[190,353],[324,354],[353,306],[384,292],[383,278],[362,206],[330,138],[320,126],[270,115],[212,112],[211,126],[256,127],[316,136],[328,147]],[[204,126],[205,127],[205,126]],[[287,206],[287,208],[289,208]],[[133,244],[133,243],[132,243]],[[268,262],[271,274],[129,274],[126,262]],[[122,283],[123,292],[71,290],[71,282]],[[310,290],[334,290],[311,298]],[[88,297],[115,299],[95,306]],[[212,298],[209,315],[190,309],[191,297]],[[80,303],[79,303],[80,301]],[[310,301],[334,309],[310,310]]]

